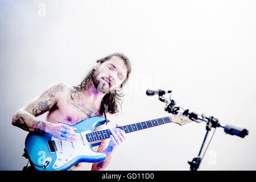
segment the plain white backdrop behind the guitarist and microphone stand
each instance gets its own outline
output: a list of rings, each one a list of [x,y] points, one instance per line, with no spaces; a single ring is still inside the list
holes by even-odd
[[[123,52],[132,73],[120,125],[168,116],[146,89],[249,130],[218,128],[199,170],[255,170],[255,1],[0,1],[1,170],[21,170],[27,132],[11,125],[57,81],[77,85],[97,59]],[[205,123],[127,134],[108,170],[189,170]],[[212,133],[210,133],[212,134]]]

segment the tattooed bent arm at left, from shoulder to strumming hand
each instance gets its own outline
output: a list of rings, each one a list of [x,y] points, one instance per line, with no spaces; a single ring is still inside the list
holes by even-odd
[[[76,139],[75,129],[64,124],[53,124],[36,118],[46,113],[54,106],[63,90],[67,86],[63,82],[57,82],[48,88],[41,96],[34,98],[27,105],[16,111],[13,115],[12,124],[26,131],[49,133],[53,137],[64,140]]]

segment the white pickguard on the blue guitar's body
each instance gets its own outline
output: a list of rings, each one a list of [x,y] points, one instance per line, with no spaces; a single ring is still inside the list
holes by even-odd
[[[57,169],[65,164],[69,163],[72,159],[77,158],[78,156],[97,156],[100,155],[97,152],[94,152],[90,148],[90,143],[85,138],[85,134],[91,133],[90,130],[80,133],[79,139],[74,142],[68,142],[65,140],[60,140],[52,137],[52,140],[55,140],[57,151],[57,159],[53,164],[52,168]]]

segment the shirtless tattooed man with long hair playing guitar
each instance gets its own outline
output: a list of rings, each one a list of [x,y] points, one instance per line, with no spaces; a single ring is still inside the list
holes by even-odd
[[[76,140],[79,134],[75,133],[76,129],[72,125],[90,117],[104,117],[104,104],[108,107],[107,117],[113,120],[114,113],[118,113],[117,104],[122,97],[122,86],[129,78],[130,71],[130,61],[123,53],[113,53],[97,60],[80,85],[70,87],[64,82],[53,84],[41,96],[16,111],[12,124],[26,131],[48,133],[61,140]],[[36,118],[47,111],[46,121]],[[106,125],[101,125],[95,131],[104,129]],[[110,132],[112,135],[109,139],[93,147],[94,151],[106,153],[104,161],[79,163],[69,170],[106,168],[115,147],[126,138],[123,130],[113,128]]]

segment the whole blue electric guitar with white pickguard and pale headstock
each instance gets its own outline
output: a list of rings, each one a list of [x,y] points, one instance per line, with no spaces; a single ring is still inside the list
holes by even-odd
[[[192,121],[183,115],[171,114],[170,117],[120,126],[119,129],[130,133],[171,122],[182,126]],[[74,142],[60,140],[49,134],[29,133],[25,141],[25,154],[31,165],[39,171],[67,170],[80,162],[102,162],[106,154],[95,152],[92,147],[99,145],[100,140],[110,138],[109,130],[94,132],[95,127],[104,123],[105,118],[92,117],[73,125],[80,135]]]

